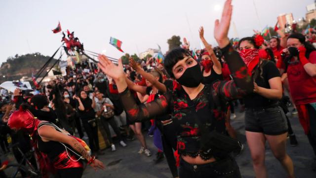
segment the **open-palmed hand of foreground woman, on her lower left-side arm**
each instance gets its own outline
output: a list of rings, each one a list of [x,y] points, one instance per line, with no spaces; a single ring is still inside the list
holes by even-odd
[[[98,57],[99,68],[108,76],[112,77],[114,80],[124,79],[124,71],[123,71],[123,64],[122,60],[118,59],[118,66],[113,64],[107,56],[99,55]]]

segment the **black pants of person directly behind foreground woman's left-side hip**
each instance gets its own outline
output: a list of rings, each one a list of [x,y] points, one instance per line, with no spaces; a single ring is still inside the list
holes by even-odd
[[[174,178],[179,177],[176,160],[172,150],[177,150],[177,135],[173,123],[163,126],[161,133],[163,153],[167,159],[171,174]]]

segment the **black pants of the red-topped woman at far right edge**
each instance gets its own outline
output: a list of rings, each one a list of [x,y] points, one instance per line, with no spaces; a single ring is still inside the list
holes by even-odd
[[[310,117],[310,132],[307,137],[316,155],[316,110],[310,104],[306,104],[306,107]]]

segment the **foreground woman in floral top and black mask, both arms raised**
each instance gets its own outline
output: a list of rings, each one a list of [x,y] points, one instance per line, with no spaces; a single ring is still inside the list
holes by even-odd
[[[226,0],[221,21],[215,21],[214,29],[215,39],[232,72],[232,81],[219,81],[212,86],[202,84],[203,75],[197,61],[187,50],[176,48],[164,60],[168,74],[178,82],[174,83],[173,91],[167,91],[150,103],[137,105],[127,89],[121,60],[116,66],[106,56],[99,56],[98,66],[115,80],[131,120],[144,121],[157,115],[172,115],[177,133],[180,178],[241,177],[236,161],[229,156],[232,150],[227,148],[228,144],[239,148],[235,140],[226,136],[227,101],[251,93],[253,82],[227,37],[232,8],[231,0]],[[216,140],[219,137],[223,139]]]

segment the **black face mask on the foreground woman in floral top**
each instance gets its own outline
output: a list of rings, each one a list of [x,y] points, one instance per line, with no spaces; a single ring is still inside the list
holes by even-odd
[[[187,68],[179,79],[176,79],[180,85],[189,88],[197,87],[203,80],[203,74],[199,65]]]

